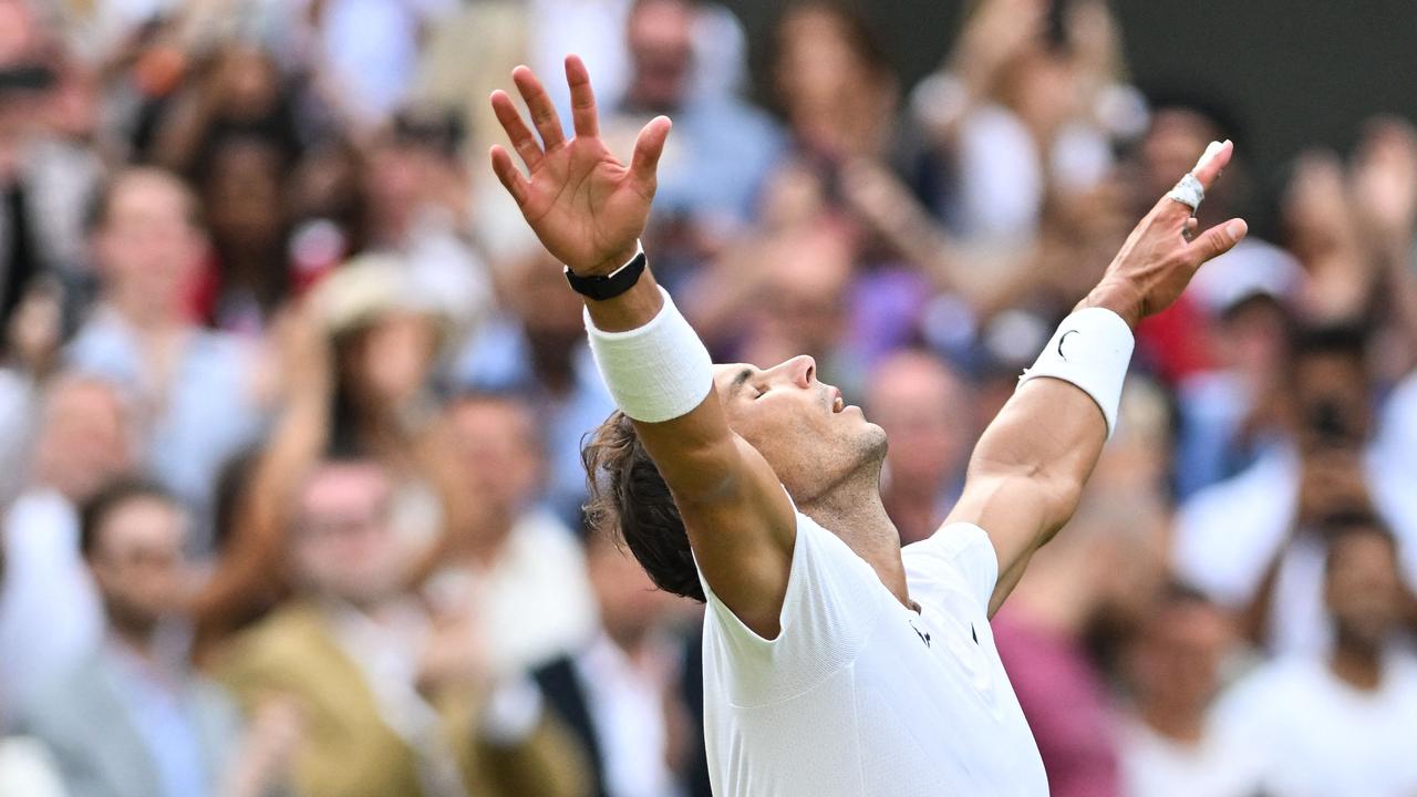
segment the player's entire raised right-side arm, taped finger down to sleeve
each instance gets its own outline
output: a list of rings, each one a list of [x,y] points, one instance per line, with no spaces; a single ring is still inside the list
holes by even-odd
[[[1226,142],[1197,163],[1193,174],[1202,186],[1214,183],[1230,153]],[[1196,269],[1230,251],[1246,230],[1243,220],[1233,218],[1190,240],[1196,233],[1192,207],[1170,194],[1162,197],[1077,306],[1107,312],[1068,316],[1034,366],[1040,373],[1033,376],[1046,377],[1026,379],[985,430],[969,459],[964,495],[947,522],[976,523],[993,540],[999,581],[990,613],[1019,583],[1033,552],[1077,509],[1110,433],[1112,418],[1104,413],[1115,414],[1131,330],[1175,302]],[[1110,398],[1108,387],[1097,389],[1098,379],[1111,383]]]

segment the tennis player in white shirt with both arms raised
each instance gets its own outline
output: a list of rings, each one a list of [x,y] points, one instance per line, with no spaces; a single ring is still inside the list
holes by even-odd
[[[591,349],[621,408],[587,448],[592,511],[657,586],[708,604],[714,791],[1046,794],[989,615],[1077,506],[1117,417],[1132,326],[1244,237],[1238,218],[1203,233],[1190,221],[1229,142],[1146,214],[985,431],[945,523],[901,549],[880,498],[881,428],[818,381],[811,357],[714,367],[646,271],[638,238],[669,119],[650,121],[622,165],[599,139],[585,65],[568,57],[565,74],[575,136],[517,68],[540,140],[493,92],[529,174],[500,146],[492,166],[588,298]]]

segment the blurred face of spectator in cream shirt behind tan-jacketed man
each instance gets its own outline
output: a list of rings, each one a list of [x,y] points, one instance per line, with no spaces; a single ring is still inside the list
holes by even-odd
[[[503,398],[472,398],[449,410],[453,444],[473,495],[516,512],[536,495],[541,441],[530,410]]]

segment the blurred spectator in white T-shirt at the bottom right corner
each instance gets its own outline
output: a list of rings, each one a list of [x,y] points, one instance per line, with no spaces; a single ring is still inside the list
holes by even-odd
[[[1396,645],[1406,587],[1397,543],[1370,518],[1329,529],[1326,655],[1281,658],[1226,698],[1274,797],[1417,793],[1417,659]]]

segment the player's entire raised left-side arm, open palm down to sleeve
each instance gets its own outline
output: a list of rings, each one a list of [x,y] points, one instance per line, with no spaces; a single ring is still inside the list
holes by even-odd
[[[669,135],[669,119],[657,116],[645,125],[626,166],[599,138],[595,96],[580,58],[565,60],[575,129],[571,139],[565,139],[555,108],[531,69],[517,67],[512,78],[540,140],[512,98],[502,91],[493,92],[497,121],[527,167],[527,174],[521,174],[510,153],[495,146],[492,167],[497,179],[541,244],[574,275],[616,272],[636,257],[655,196],[655,169]],[[547,279],[560,277],[547,274]],[[672,322],[682,323],[665,296],[646,269],[632,288],[614,298],[588,298],[585,308],[592,335],[612,340],[621,333],[622,342],[633,336],[649,346],[650,359],[665,355],[660,339],[643,335],[650,322],[657,322],[660,330]],[[686,326],[679,328],[680,332]],[[659,417],[636,413],[623,400],[619,403],[635,418],[639,440],[669,485],[694,557],[714,593],[744,624],[771,637],[778,631],[792,562],[796,530],[792,506],[762,457],[728,428],[703,345],[691,333],[677,340],[687,356],[667,363],[659,373],[640,374],[640,383],[629,387],[638,389],[648,403],[673,403],[676,396],[682,403],[690,396],[684,411]],[[598,352],[605,372],[602,355]],[[616,387],[626,384],[623,380],[619,386],[611,384],[612,393]],[[683,393],[686,389],[691,393]]]

